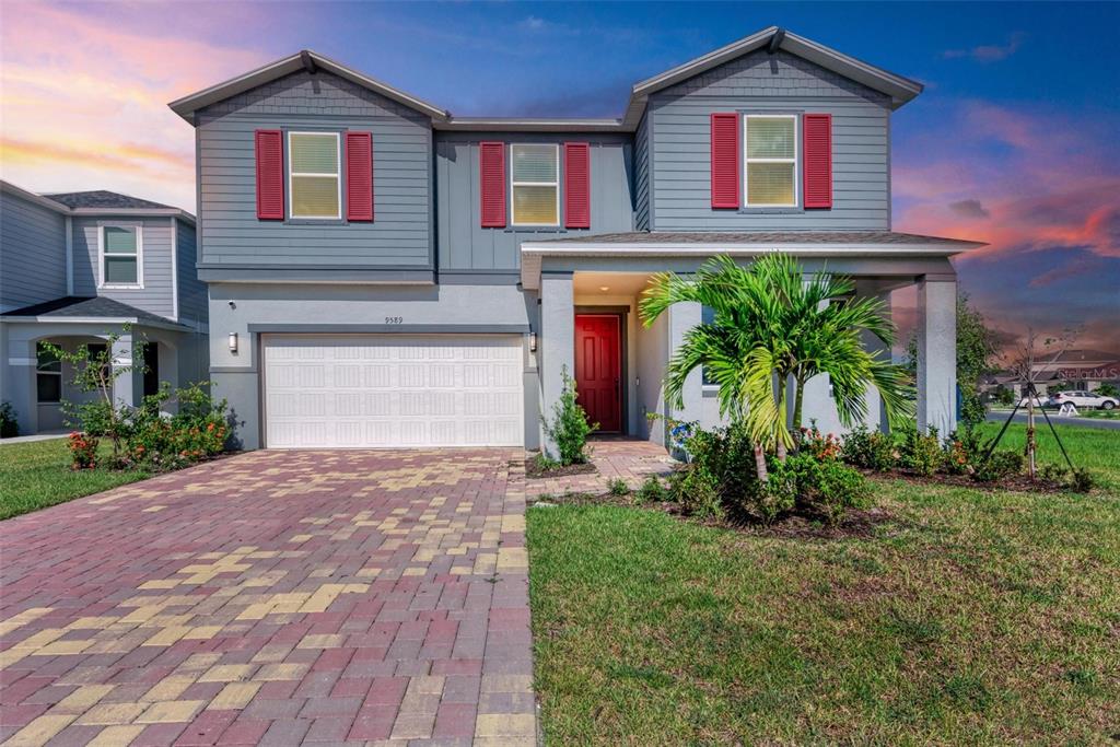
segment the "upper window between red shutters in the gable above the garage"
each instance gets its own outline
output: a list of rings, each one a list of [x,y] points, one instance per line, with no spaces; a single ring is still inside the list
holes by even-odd
[[[288,193],[291,218],[342,218],[337,132],[288,133]]]

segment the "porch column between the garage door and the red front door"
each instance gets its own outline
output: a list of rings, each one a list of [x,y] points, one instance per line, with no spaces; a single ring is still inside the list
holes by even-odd
[[[544,432],[563,391],[563,372],[576,377],[576,306],[571,272],[541,273],[539,362],[541,372],[541,450],[556,458],[556,442]]]

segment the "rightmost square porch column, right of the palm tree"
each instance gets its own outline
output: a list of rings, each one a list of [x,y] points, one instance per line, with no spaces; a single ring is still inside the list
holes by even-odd
[[[956,280],[917,283],[917,429],[956,429]]]

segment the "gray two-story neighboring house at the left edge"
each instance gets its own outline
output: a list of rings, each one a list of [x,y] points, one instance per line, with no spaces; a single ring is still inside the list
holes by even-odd
[[[206,379],[206,286],[195,271],[195,218],[112,192],[37,195],[0,181],[0,400],[20,435],[63,429],[60,401],[82,401],[74,372],[41,343],[104,349],[144,365],[116,380],[133,404],[160,381]],[[94,352],[99,348],[94,347]]]

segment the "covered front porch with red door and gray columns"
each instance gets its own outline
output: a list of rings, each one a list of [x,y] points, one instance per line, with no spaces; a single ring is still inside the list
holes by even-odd
[[[684,334],[704,321],[703,309],[699,304],[676,304],[646,328],[638,317],[641,293],[653,273],[693,273],[713,255],[749,263],[763,253],[785,252],[809,273],[851,277],[857,296],[889,302],[894,290],[916,287],[918,427],[942,433],[955,429],[956,274],[949,256],[980,244],[892,232],[824,236],[831,241],[804,233],[644,233],[522,244],[522,283],[536,290],[540,299],[541,412],[552,412],[562,389],[561,372],[567,370],[575,372],[581,404],[600,430],[664,443],[663,418],[720,424],[717,390],[704,384],[700,371],[690,376],[681,408],[665,401],[662,385],[669,358]],[[866,344],[880,345],[870,335]],[[843,430],[827,376],[809,382],[804,417],[815,419],[825,432]],[[868,393],[866,422],[886,428],[874,391]],[[603,428],[604,423],[610,427]],[[542,443],[547,445],[543,431]]]

